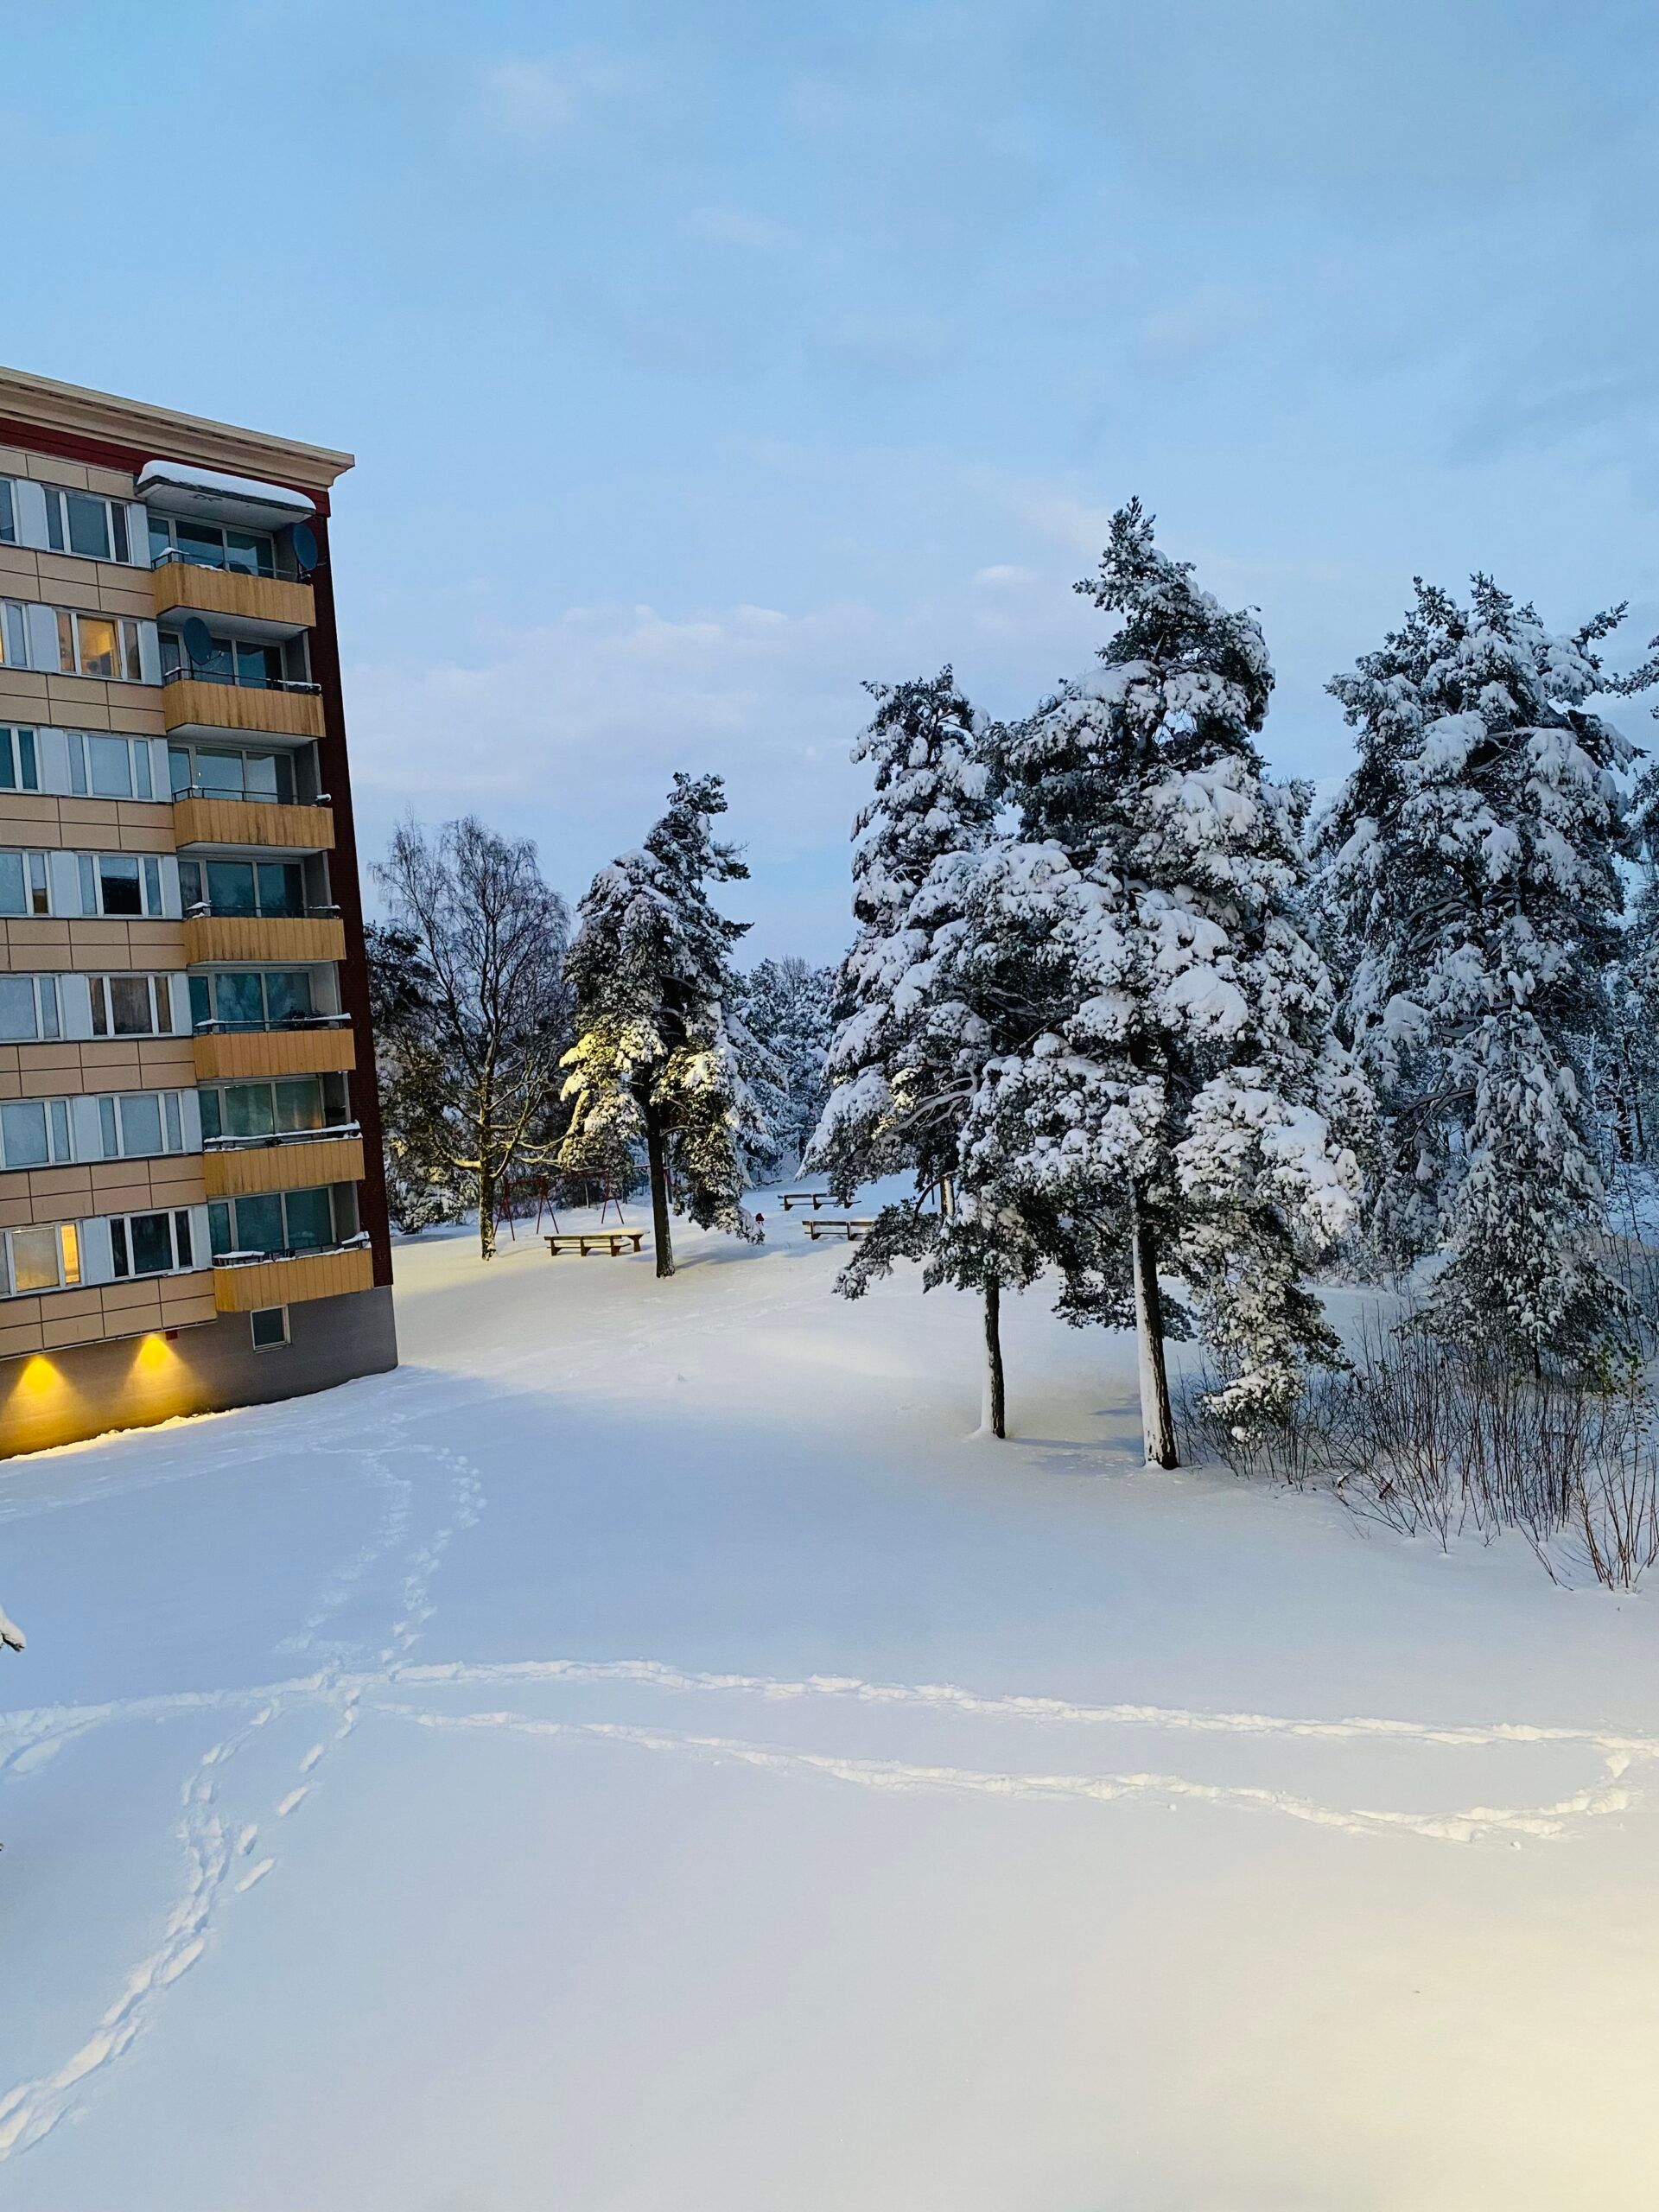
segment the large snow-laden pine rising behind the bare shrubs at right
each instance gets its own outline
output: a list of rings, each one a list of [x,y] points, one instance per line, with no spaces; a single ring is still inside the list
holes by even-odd
[[[1586,701],[1597,644],[1486,577],[1416,606],[1332,692],[1360,761],[1321,830],[1343,1033],[1385,1108],[1374,1232],[1444,1250],[1429,1323],[1537,1363],[1590,1356],[1621,1292],[1586,1051],[1610,1026],[1632,752]]]

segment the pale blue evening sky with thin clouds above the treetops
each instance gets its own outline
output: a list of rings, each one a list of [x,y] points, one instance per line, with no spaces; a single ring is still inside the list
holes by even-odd
[[[367,849],[476,807],[575,896],[717,768],[728,905],[827,958],[860,679],[1035,701],[1130,491],[1261,608],[1285,772],[1413,573],[1659,628],[1646,0],[0,0],[0,358],[358,456]]]

